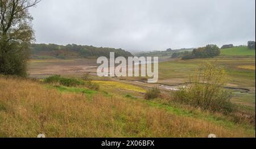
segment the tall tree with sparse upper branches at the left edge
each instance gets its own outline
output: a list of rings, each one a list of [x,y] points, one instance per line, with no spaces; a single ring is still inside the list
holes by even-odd
[[[0,0],[0,73],[26,74],[28,46],[34,41],[28,8],[40,0]]]

